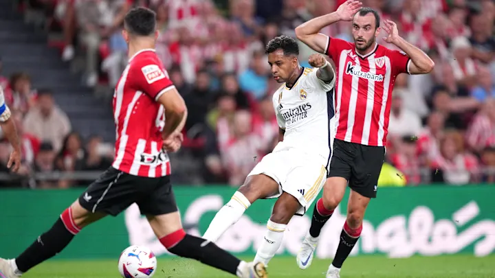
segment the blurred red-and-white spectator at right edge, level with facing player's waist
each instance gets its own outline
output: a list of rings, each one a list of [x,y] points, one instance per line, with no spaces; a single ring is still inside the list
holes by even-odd
[[[490,98],[466,132],[467,145],[476,152],[495,146],[495,100]]]

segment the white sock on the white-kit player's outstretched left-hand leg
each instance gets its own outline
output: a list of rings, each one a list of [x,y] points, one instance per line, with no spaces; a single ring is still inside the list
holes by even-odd
[[[250,207],[251,202],[241,192],[234,193],[232,199],[217,212],[203,238],[210,242],[217,242],[227,229],[235,224],[244,211]]]

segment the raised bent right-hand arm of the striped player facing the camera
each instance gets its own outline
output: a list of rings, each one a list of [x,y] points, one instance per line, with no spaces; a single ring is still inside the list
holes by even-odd
[[[393,45],[399,47],[399,49],[404,51],[409,56],[410,65],[408,72],[410,74],[424,74],[433,70],[433,60],[421,49],[411,45],[404,40],[404,38],[401,38],[401,36],[399,36],[399,31],[397,30],[397,25],[393,21],[384,21],[382,28],[388,33],[388,36],[383,39],[387,43],[392,43]]]

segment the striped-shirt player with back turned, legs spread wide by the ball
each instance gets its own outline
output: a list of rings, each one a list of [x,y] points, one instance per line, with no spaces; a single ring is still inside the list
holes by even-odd
[[[130,58],[113,98],[117,141],[112,167],[19,257],[0,258],[0,277],[20,277],[60,253],[83,227],[104,216],[116,216],[136,203],[170,253],[237,277],[266,278],[263,263],[243,262],[182,229],[164,150],[179,149],[186,106],[153,50],[158,36],[155,13],[146,8],[129,11],[123,36],[129,44]],[[125,277],[134,276],[125,265],[122,268]]]

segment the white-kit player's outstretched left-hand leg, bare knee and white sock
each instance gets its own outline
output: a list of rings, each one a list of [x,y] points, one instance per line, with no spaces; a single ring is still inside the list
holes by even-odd
[[[220,236],[241,218],[244,211],[255,200],[277,193],[278,183],[269,176],[264,174],[248,176],[244,185],[239,187],[232,199],[217,212],[203,238],[210,242],[217,242]]]

